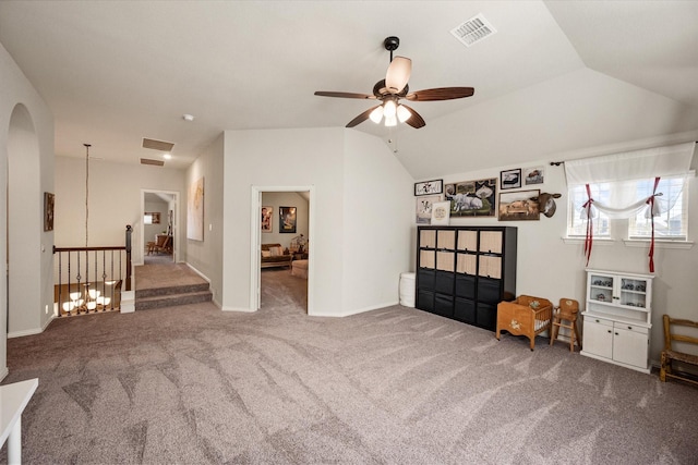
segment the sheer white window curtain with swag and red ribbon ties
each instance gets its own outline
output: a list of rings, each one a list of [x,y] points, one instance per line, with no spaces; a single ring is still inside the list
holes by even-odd
[[[646,218],[653,218],[662,211],[667,211],[676,203],[681,193],[674,193],[672,198],[664,197],[663,193],[657,192],[660,179],[688,176],[695,149],[696,143],[691,142],[565,161],[567,186],[585,185],[587,191],[587,201],[581,206],[581,218],[588,221],[585,241],[587,265],[589,265],[593,244],[592,221],[598,215],[595,210],[601,210],[613,219],[630,218],[642,209],[646,210]],[[654,188],[649,197],[638,198],[636,182],[639,180],[654,180]],[[599,203],[591,196],[589,186],[600,183],[607,183],[611,186],[611,200],[606,204]],[[654,271],[653,256],[654,234],[652,233],[649,253],[651,272]]]

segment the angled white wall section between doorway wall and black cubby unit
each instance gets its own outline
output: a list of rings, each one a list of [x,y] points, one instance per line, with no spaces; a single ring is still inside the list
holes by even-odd
[[[399,277],[410,269],[414,180],[383,140],[346,132],[345,311],[399,301]]]

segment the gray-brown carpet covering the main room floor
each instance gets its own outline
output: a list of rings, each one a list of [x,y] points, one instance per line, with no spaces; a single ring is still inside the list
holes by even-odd
[[[304,285],[272,270],[255,314],[91,315],[10,340],[3,383],[39,378],[25,463],[698,461],[694,387],[400,306],[309,317]]]

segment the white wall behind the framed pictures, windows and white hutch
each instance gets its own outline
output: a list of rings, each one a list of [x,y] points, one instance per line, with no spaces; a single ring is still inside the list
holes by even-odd
[[[617,149],[617,151],[622,150]],[[601,155],[603,149],[599,148],[593,154],[590,151],[590,156]],[[580,305],[583,306],[586,301],[583,241],[563,240],[566,232],[568,210],[564,166],[551,167],[549,164],[550,161],[556,160],[541,160],[539,163],[525,167],[508,166],[468,173],[447,174],[444,175],[444,183],[498,178],[500,171],[503,170],[539,166],[545,170],[544,184],[524,185],[521,189],[540,188],[541,192],[562,193],[563,196],[556,200],[557,211],[554,217],[546,218],[541,215],[540,221],[508,222],[500,222],[496,218],[452,218],[450,224],[517,227],[517,295],[537,295],[549,298],[554,303],[562,297],[568,297],[579,301]],[[694,159],[694,163],[696,162],[697,160]],[[514,189],[510,192],[514,192]],[[696,241],[698,238],[698,182],[696,179],[690,181],[689,209],[689,238]],[[637,247],[626,245],[621,240],[595,240],[589,268],[649,274],[648,252],[649,243]],[[698,245],[689,246],[688,248],[672,248],[662,244],[655,245],[655,279],[650,342],[650,359],[652,363],[658,363],[663,347],[662,314],[666,313],[676,318],[698,319],[696,307],[696,302],[698,302],[697,270]]]

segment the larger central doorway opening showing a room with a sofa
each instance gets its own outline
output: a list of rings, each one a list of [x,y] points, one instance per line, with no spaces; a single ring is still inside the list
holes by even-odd
[[[252,187],[251,302],[254,310],[313,313],[314,189]]]

